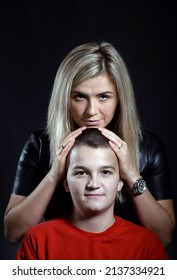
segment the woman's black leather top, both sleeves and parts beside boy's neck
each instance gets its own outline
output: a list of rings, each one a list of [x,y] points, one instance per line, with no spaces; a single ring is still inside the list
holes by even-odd
[[[21,153],[13,193],[28,196],[49,171],[49,142],[44,130],[31,134]],[[172,190],[169,175],[168,159],[164,146],[158,136],[143,130],[143,141],[140,146],[140,173],[148,189],[156,200],[171,199]],[[115,214],[127,220],[137,222],[131,198],[126,193],[123,204],[116,201]],[[70,195],[58,186],[46,210],[45,218],[67,214],[72,211]]]

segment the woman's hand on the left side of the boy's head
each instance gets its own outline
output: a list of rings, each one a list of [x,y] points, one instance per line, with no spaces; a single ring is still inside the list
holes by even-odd
[[[56,150],[56,157],[54,163],[49,171],[49,176],[52,180],[61,182],[65,177],[66,171],[66,158],[71,150],[76,137],[82,133],[86,127],[80,127],[77,130],[70,133],[63,141],[59,144]]]

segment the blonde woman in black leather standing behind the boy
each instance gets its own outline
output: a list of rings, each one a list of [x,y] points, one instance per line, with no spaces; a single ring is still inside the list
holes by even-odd
[[[66,157],[75,137],[95,126],[113,142],[125,182],[115,213],[149,228],[164,245],[171,241],[175,217],[164,147],[141,128],[125,63],[103,42],[73,49],[58,69],[47,129],[30,136],[17,167],[4,217],[9,242],[19,242],[43,216],[71,210],[62,184]]]

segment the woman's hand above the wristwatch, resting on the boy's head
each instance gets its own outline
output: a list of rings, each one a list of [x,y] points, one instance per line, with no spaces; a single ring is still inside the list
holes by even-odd
[[[118,158],[120,177],[126,181],[129,187],[132,187],[141,175],[132,162],[127,143],[106,128],[99,127],[98,129],[108,138],[109,145]]]

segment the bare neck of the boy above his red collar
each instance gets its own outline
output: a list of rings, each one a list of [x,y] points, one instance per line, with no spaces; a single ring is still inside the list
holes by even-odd
[[[70,217],[70,222],[77,228],[93,233],[100,233],[107,230],[115,222],[113,213],[99,213],[93,216],[79,215],[73,213]]]

